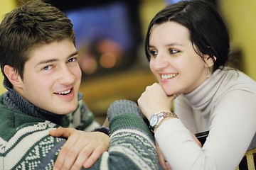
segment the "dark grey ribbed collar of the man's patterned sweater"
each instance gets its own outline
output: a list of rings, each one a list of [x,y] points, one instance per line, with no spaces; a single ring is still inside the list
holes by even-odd
[[[3,84],[4,87],[8,90],[4,94],[4,105],[6,105],[9,109],[18,110],[33,117],[43,118],[44,120],[49,120],[50,122],[57,125],[65,126],[65,115],[57,115],[38,108],[29,101],[26,101],[26,99],[24,99],[20,94],[14,91],[12,87],[7,86],[5,79]],[[81,98],[82,94],[78,94],[78,100],[80,100]]]

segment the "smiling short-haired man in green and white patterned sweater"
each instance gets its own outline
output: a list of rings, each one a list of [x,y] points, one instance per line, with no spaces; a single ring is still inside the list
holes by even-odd
[[[7,13],[0,24],[0,64],[8,90],[0,96],[1,169],[80,169],[99,157],[91,169],[158,169],[153,137],[134,103],[110,108],[110,137],[78,131],[96,126],[78,93],[73,25],[57,8],[28,1]],[[52,130],[59,127],[78,130]]]

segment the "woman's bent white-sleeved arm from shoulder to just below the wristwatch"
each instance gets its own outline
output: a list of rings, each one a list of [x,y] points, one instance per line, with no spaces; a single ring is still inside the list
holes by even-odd
[[[240,163],[255,135],[255,94],[232,91],[216,101],[202,148],[180,120],[168,120],[156,130],[156,140],[174,169],[235,169]],[[180,164],[181,159],[186,164]]]

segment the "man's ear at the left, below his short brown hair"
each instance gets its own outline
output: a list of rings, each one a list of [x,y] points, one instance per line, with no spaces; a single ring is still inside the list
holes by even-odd
[[[21,87],[21,77],[18,75],[18,72],[15,72],[14,67],[11,67],[9,65],[4,66],[4,74],[6,74],[6,77],[9,79],[11,84],[16,87]]]

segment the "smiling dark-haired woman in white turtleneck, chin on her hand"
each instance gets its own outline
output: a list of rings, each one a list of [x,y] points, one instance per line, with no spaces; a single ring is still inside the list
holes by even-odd
[[[145,50],[159,83],[138,103],[161,165],[235,169],[255,147],[256,83],[228,67],[230,39],[218,11],[200,0],[166,6],[149,24]],[[209,135],[202,147],[191,134],[204,131]]]

